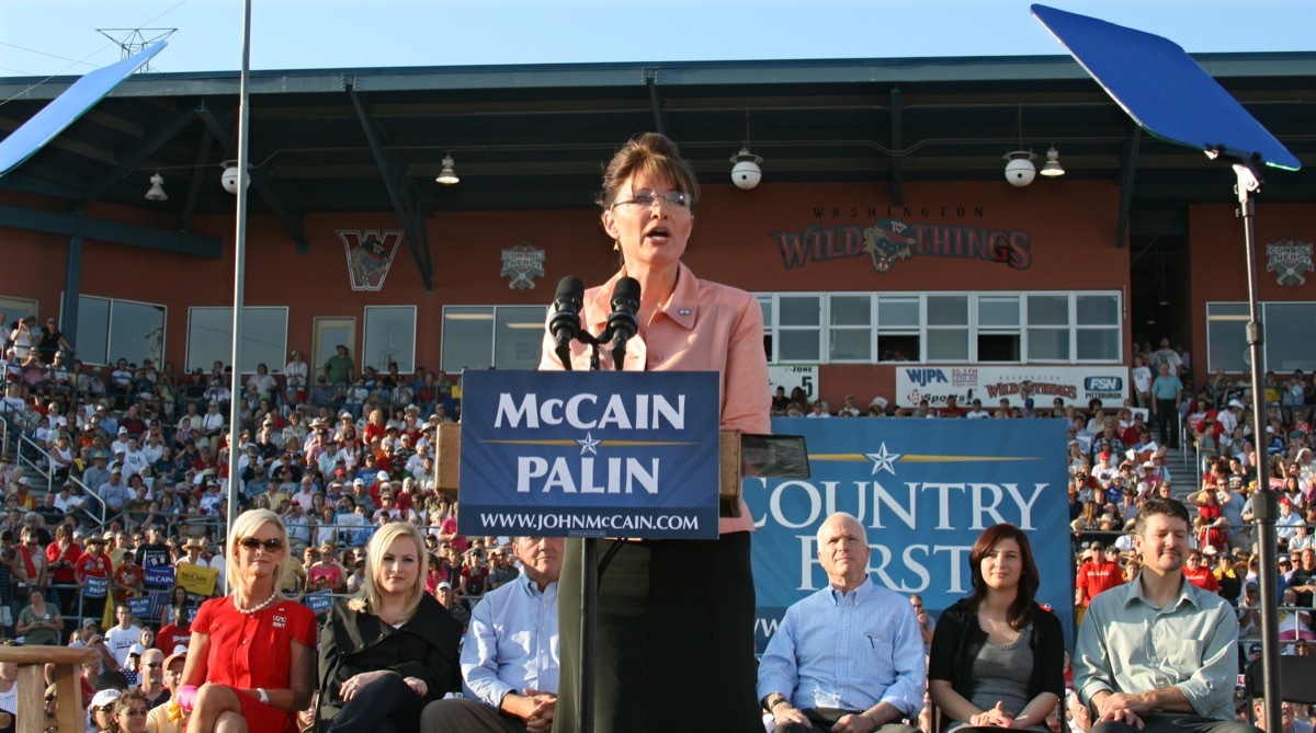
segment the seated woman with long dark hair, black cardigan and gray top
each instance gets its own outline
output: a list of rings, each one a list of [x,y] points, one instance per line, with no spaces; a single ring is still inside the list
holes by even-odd
[[[1059,619],[1033,600],[1038,577],[1028,536],[1012,524],[988,527],[969,566],[973,594],[937,620],[928,661],[942,732],[1046,732],[1065,695],[1065,637]]]

